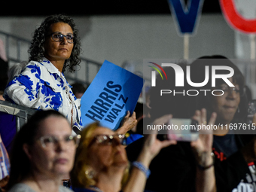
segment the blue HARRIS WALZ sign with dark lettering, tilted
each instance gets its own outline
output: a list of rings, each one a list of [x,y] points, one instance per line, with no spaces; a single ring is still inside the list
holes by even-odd
[[[117,130],[126,112],[133,114],[143,84],[143,78],[105,60],[81,98],[83,125],[99,121]]]

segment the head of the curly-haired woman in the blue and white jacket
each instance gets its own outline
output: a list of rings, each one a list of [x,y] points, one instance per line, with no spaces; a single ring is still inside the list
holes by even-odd
[[[53,63],[62,60],[62,71],[75,71],[80,62],[81,42],[78,29],[71,17],[52,15],[47,17],[34,32],[29,47],[29,61],[41,61],[44,57]],[[56,66],[59,69],[58,66]]]

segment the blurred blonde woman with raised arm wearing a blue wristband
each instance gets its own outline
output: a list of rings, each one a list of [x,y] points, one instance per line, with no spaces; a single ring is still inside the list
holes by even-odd
[[[166,116],[162,121],[166,121]],[[146,136],[145,145],[137,161],[132,165],[126,157],[126,138],[114,131],[90,124],[81,132],[81,142],[75,156],[75,166],[71,172],[72,189],[76,192],[118,192],[143,191],[151,160],[175,141],[156,139],[156,134]],[[132,170],[129,175],[129,168]]]

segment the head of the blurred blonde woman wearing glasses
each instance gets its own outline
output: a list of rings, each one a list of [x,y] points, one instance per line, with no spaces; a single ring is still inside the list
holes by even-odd
[[[128,175],[124,135],[92,123],[81,132],[81,142],[71,172],[73,188],[99,186],[106,178],[115,177],[121,188]]]

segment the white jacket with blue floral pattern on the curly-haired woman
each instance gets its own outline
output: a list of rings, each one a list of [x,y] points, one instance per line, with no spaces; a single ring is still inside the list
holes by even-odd
[[[64,75],[44,58],[42,62],[30,61],[5,88],[4,98],[29,108],[59,111],[81,129],[81,99],[71,88]]]

